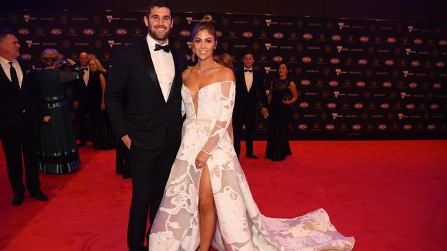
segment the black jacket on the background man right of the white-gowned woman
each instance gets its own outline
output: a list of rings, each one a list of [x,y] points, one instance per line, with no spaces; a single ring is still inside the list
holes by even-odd
[[[246,77],[243,69],[237,71],[236,74],[236,98],[233,115],[243,115],[245,112],[256,112],[258,99],[261,99],[263,107],[268,106],[267,95],[263,85],[263,77],[261,73],[253,70],[253,84],[250,91],[247,90]]]

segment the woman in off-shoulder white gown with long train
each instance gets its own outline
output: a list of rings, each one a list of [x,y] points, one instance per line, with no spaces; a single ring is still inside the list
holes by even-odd
[[[217,64],[211,22],[193,29],[195,67],[183,73],[182,144],[151,228],[149,250],[351,250],[322,209],[293,219],[259,212],[232,144],[235,77]],[[229,133],[230,132],[230,133]]]

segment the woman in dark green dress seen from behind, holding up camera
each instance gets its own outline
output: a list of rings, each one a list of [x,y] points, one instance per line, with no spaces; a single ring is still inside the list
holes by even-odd
[[[61,60],[56,49],[45,49],[41,60],[45,67],[36,73],[36,78],[51,120],[41,125],[39,169],[49,174],[71,173],[78,170],[80,159],[64,90],[66,82],[77,80],[80,76],[78,71],[67,72],[59,68],[66,65],[74,69],[79,67],[73,60]]]

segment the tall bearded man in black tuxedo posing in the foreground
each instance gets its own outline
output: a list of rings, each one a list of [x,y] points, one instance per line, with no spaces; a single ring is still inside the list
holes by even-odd
[[[105,102],[118,137],[130,149],[132,202],[127,243],[129,250],[144,246],[146,219],[152,225],[180,145],[182,133],[182,71],[184,54],[168,45],[173,25],[170,5],[149,3],[144,16],[148,34],[122,47],[113,58]],[[128,102],[123,109],[123,94]]]

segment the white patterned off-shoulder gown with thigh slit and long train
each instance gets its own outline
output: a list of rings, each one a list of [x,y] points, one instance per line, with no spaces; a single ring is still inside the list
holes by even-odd
[[[318,209],[293,219],[274,219],[259,212],[228,135],[235,102],[235,82],[216,82],[199,90],[197,112],[182,86],[186,121],[182,144],[169,176],[164,198],[149,239],[151,251],[195,251],[200,244],[198,190],[202,169],[195,158],[210,154],[212,193],[217,226],[212,247],[217,250],[351,250],[353,237],[344,237]]]

